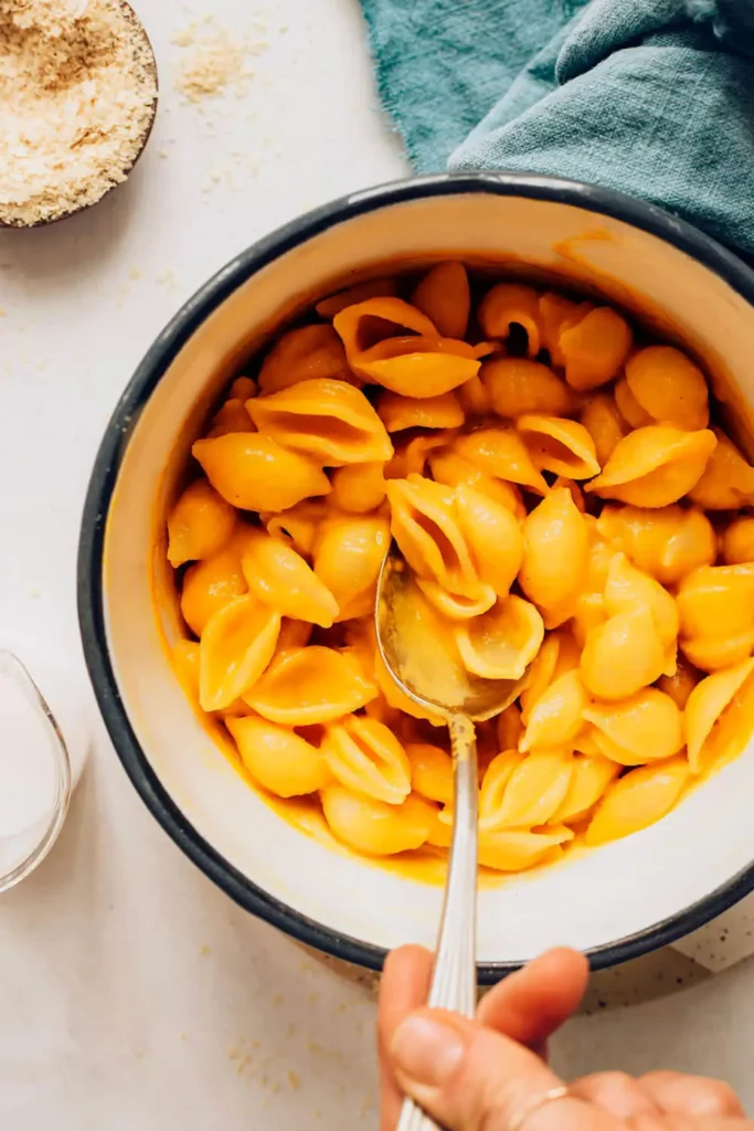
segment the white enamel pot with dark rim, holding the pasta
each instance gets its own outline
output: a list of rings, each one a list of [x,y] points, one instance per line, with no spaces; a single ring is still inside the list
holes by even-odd
[[[235,772],[171,667],[164,640],[177,622],[159,546],[191,440],[280,321],[387,261],[459,257],[567,278],[640,314],[703,360],[719,398],[754,437],[754,274],[736,257],[658,208],[589,185],[497,173],[424,178],[304,216],[187,303],[107,426],[81,532],[89,671],[115,749],[155,818],[243,907],[373,968],[399,943],[433,943],[441,891],[309,839]],[[722,912],[754,887],[752,797],[754,744],[651,828],[483,890],[480,979],[555,943],[606,966]]]

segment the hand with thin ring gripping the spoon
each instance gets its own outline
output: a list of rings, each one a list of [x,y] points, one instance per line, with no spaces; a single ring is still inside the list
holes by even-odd
[[[404,1095],[448,1131],[754,1131],[728,1085],[681,1072],[598,1072],[565,1094],[547,1038],[578,1008],[588,973],[577,951],[551,950],[495,986],[469,1021],[422,1008],[428,951],[393,951],[378,1022],[382,1131],[395,1131]]]

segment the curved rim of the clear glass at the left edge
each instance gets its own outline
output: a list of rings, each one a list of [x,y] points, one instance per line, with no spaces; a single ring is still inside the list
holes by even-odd
[[[23,661],[7,648],[0,648],[0,674],[2,673],[14,679],[21,687],[29,703],[44,718],[50,739],[50,757],[55,767],[55,796],[52,803],[50,821],[34,848],[14,867],[5,873],[0,873],[0,895],[20,883],[21,880],[26,879],[42,863],[60,836],[71,798],[71,763],[68,746],[47,700],[42,694],[32,673]]]

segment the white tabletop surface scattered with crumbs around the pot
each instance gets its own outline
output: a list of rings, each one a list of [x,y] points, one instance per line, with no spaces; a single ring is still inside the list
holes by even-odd
[[[89,469],[151,339],[240,248],[405,170],[376,107],[356,0],[137,8],[162,96],[130,182],[64,224],[0,233],[0,625],[44,634],[67,665],[81,664],[75,561]],[[174,74],[190,49],[172,40],[208,14],[269,49],[250,61],[245,95],[185,105]],[[92,706],[83,666],[81,689]],[[0,1125],[375,1126],[367,990],[216,890],[93,727],[61,840],[0,904]],[[753,1046],[745,962],[673,998],[579,1018],[555,1052],[567,1073],[717,1073],[754,1107]]]

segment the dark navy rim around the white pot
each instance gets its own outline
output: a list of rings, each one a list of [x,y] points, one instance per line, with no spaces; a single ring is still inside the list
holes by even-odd
[[[205,284],[171,319],[131,378],[107,424],[84,506],[78,553],[78,610],[94,692],[115,751],[153,817],[183,853],[241,907],[297,941],[336,958],[379,970],[385,951],[343,935],[274,898],[231,865],[181,813],[151,769],[131,728],[111,663],[104,620],[102,560],[105,521],[119,469],[140,412],[163,373],[205,319],[254,273],[327,228],[392,205],[468,193],[527,197],[615,217],[673,244],[708,267],[754,305],[754,271],[733,252],[656,205],[553,176],[526,173],[443,173],[355,192],[314,209],[259,240]],[[754,889],[754,862],[725,884],[675,915],[588,952],[592,969],[613,966],[667,946],[720,915]],[[553,940],[557,942],[558,940]],[[488,985],[521,962],[484,962]]]

